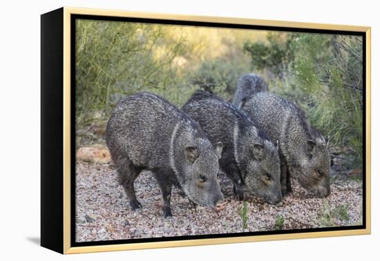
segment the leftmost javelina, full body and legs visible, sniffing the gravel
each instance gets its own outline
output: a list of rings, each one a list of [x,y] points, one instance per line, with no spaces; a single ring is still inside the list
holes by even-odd
[[[133,209],[141,206],[133,182],[144,170],[158,181],[165,217],[171,216],[172,185],[197,204],[215,208],[223,200],[217,181],[222,144],[213,148],[196,122],[161,97],[137,93],[119,101],[106,143]]]

